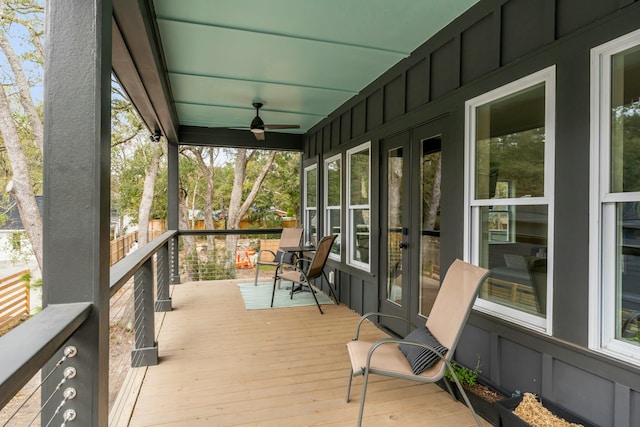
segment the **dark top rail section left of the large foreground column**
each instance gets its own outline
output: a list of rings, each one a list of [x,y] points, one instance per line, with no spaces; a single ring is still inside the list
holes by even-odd
[[[52,304],[0,337],[0,408],[54,356],[90,313],[88,302]]]

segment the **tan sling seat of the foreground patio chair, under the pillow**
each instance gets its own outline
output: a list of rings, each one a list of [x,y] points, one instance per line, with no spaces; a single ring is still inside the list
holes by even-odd
[[[367,364],[367,355],[373,344],[373,342],[361,340],[347,343],[353,375],[358,375],[364,371],[364,366]],[[438,362],[418,376],[424,377],[425,379],[433,377],[440,372],[441,366],[442,362]],[[397,375],[415,377],[409,361],[405,355],[402,354],[397,343],[383,344],[378,347],[371,357],[370,368],[372,371],[385,371]]]

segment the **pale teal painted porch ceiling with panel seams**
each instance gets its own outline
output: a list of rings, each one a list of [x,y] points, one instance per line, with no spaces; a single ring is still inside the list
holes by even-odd
[[[155,0],[181,125],[304,133],[478,0]]]

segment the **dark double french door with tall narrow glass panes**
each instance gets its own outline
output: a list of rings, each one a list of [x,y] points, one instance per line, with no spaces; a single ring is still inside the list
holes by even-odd
[[[416,325],[440,287],[442,135],[432,122],[383,140],[380,150],[380,311]],[[380,322],[401,335],[410,329]]]

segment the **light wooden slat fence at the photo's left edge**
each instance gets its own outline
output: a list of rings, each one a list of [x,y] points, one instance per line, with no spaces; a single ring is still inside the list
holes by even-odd
[[[0,278],[0,329],[28,316],[31,310],[29,282],[24,280],[29,270],[22,270]]]

